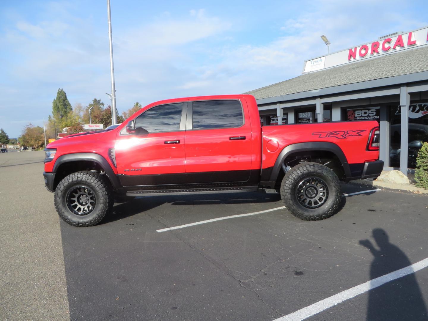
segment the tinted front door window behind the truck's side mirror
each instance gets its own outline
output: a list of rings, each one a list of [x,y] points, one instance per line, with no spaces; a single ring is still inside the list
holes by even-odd
[[[135,119],[135,128],[143,127],[149,133],[178,131],[183,103],[160,105],[146,110]]]

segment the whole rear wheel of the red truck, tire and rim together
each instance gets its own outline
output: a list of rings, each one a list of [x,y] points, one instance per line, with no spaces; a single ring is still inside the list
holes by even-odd
[[[340,203],[340,181],[327,166],[302,163],[282,179],[285,208],[302,220],[324,220],[336,214]]]

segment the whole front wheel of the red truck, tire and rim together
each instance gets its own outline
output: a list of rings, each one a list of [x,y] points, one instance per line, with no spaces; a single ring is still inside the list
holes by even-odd
[[[93,226],[113,207],[112,195],[110,183],[102,175],[75,172],[56,187],[55,208],[59,217],[70,225]]]

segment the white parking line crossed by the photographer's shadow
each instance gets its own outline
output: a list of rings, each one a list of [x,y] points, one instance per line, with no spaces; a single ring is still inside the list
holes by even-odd
[[[338,303],[341,303],[345,300],[356,297],[359,294],[362,294],[364,292],[367,292],[369,290],[377,288],[378,286],[383,285],[386,282],[390,282],[390,281],[393,281],[395,279],[406,276],[408,274],[419,271],[423,268],[426,268],[427,266],[428,266],[428,258],[423,259],[422,261],[419,261],[415,264],[409,265],[409,266],[402,268],[400,270],[396,270],[394,272],[385,274],[383,276],[379,276],[376,279],[372,279],[372,280],[367,281],[363,284],[354,286],[353,288],[349,288],[348,290],[339,292],[338,294],[335,294],[331,297],[327,297],[324,300],[318,301],[317,303],[314,303],[310,306],[306,306],[306,308],[297,310],[296,312],[290,313],[290,314],[285,315],[281,318],[277,318],[273,321],[301,321],[301,320],[304,320],[306,318],[311,317],[312,315],[315,315],[321,311],[324,311],[325,309],[331,308],[332,306],[335,306]]]

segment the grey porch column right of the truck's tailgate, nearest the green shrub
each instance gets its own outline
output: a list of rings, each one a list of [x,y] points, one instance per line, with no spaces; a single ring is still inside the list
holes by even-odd
[[[401,141],[400,141],[400,171],[407,176],[407,154],[409,148],[409,105],[410,94],[407,93],[407,86],[400,87],[401,106]]]

